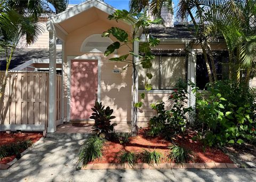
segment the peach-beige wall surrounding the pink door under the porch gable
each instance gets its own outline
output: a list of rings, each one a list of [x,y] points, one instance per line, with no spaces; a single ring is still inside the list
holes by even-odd
[[[100,16],[100,15],[99,15]],[[107,20],[107,19],[106,19]],[[109,21],[110,22],[110,21]],[[75,31],[72,31],[68,34],[66,43],[65,43],[65,69],[64,69],[64,114],[67,117],[67,101],[68,101],[68,88],[67,88],[67,57],[68,56],[100,56],[101,57],[101,101],[103,105],[109,106],[114,109],[113,122],[116,123],[126,123],[131,122],[131,100],[132,100],[132,69],[131,67],[123,70],[127,64],[109,61],[110,57],[105,57],[103,54],[95,53],[82,53],[80,51],[83,41],[91,36],[92,34],[102,33],[103,31],[108,30],[109,28],[119,25],[119,24],[110,24],[108,21],[103,21],[98,19],[97,21],[85,25],[82,28],[79,28]],[[123,26],[123,27],[122,27]],[[130,27],[121,23],[123,29],[129,29]],[[116,41],[111,37],[113,41]],[[127,48],[121,48],[118,50],[118,55],[124,55],[129,52]],[[113,56],[113,55],[111,55]],[[120,74],[112,73],[113,68],[121,70]]]

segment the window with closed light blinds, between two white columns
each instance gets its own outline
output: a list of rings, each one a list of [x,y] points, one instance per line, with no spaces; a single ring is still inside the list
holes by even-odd
[[[149,80],[147,73],[153,74]],[[184,56],[156,56],[150,69],[139,66],[139,89],[145,89],[145,84],[150,83],[153,89],[173,89],[175,82],[186,79],[187,59]]]

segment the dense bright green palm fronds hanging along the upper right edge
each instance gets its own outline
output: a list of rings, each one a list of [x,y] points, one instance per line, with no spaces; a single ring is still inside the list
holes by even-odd
[[[205,13],[207,33],[221,34],[229,52],[229,79],[249,83],[256,76],[256,1],[229,1]],[[234,69],[235,68],[235,69]],[[235,73],[232,73],[234,70]],[[242,79],[244,73],[245,79]],[[233,75],[233,76],[232,76]]]

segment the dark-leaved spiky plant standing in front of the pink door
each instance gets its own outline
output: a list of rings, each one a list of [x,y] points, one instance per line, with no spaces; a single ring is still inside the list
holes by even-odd
[[[113,132],[114,126],[117,125],[116,123],[110,124],[110,119],[116,118],[115,116],[111,116],[114,110],[110,109],[109,106],[105,109],[105,106],[102,106],[102,103],[98,101],[95,102],[92,110],[94,112],[90,118],[95,120],[92,132],[102,137],[105,137],[109,132]]]

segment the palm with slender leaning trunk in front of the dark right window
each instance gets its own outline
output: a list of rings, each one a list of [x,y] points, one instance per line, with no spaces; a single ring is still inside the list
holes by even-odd
[[[203,0],[202,0],[203,1]],[[207,2],[207,1],[206,1]],[[196,40],[193,40],[192,42],[196,42],[197,44],[200,44],[203,50],[203,55],[205,59],[205,64],[207,67],[207,72],[209,75],[209,80],[210,82],[213,82],[214,80],[217,80],[217,73],[216,73],[216,68],[214,64],[213,57],[211,56],[211,47],[209,44],[209,41],[207,39],[207,36],[204,36],[203,34],[203,29],[204,29],[204,22],[202,20],[203,18],[203,7],[201,6],[203,2],[200,2],[199,0],[180,0],[178,4],[178,17],[181,18],[182,20],[188,20],[188,16],[190,16],[191,20],[194,23],[195,30],[196,30]],[[172,11],[170,8],[170,5],[172,5],[172,1],[160,1],[160,0],[131,0],[130,1],[130,8],[131,12],[136,12],[136,11],[141,11],[147,7],[149,7],[149,11],[153,14],[153,16],[159,16],[159,12],[161,12],[162,8],[165,8],[165,10]],[[158,13],[157,13],[158,12]],[[199,18],[199,22],[196,21],[195,18],[195,13],[196,16]],[[187,23],[187,22],[185,22]],[[192,45],[192,44],[190,44]],[[213,71],[213,77],[211,74],[211,67],[210,67],[210,61],[207,56],[207,50],[210,52],[210,61],[212,65],[212,71]]]

